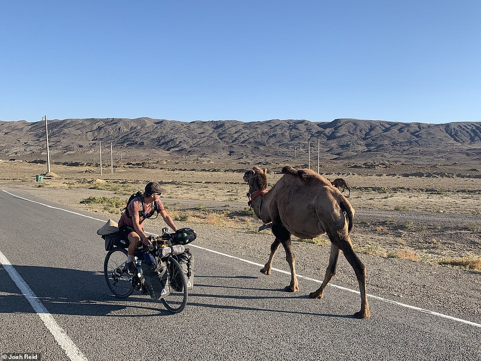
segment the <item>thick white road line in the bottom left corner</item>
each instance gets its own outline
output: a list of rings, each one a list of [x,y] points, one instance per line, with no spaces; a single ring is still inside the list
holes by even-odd
[[[72,361],[87,361],[85,355],[75,346],[75,343],[68,337],[67,333],[61,328],[52,315],[48,312],[45,306],[40,302],[38,297],[33,293],[28,284],[18,274],[15,268],[11,265],[8,259],[0,251],[0,264],[10,275],[10,278],[15,282],[18,289],[22,292],[25,298],[30,302],[33,310],[38,314],[38,317],[43,321],[47,329],[53,335],[57,343],[67,354],[67,357]]]

